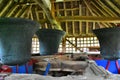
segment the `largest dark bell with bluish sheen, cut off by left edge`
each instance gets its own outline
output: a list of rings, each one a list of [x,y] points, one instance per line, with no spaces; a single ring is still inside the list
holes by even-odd
[[[2,64],[21,65],[30,60],[31,43],[39,24],[22,18],[0,18],[0,59]]]

